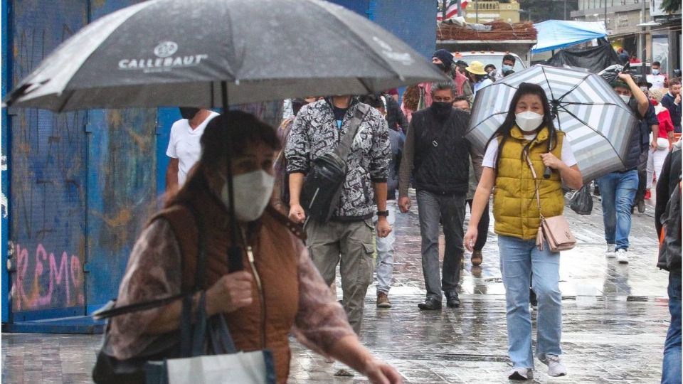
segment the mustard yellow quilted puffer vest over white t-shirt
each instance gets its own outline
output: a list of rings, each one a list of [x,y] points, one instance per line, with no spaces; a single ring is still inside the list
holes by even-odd
[[[545,166],[541,154],[548,151],[548,135],[548,129],[542,128],[529,147],[531,163],[534,164],[536,176],[541,180],[539,196],[541,211],[546,218],[561,215],[564,209],[560,174],[553,171],[550,178],[543,178]],[[558,159],[561,159],[563,140],[564,132],[557,132],[557,146],[552,153]],[[534,176],[531,175],[526,160],[521,157],[521,152],[528,143],[519,128],[512,127],[510,137],[500,152],[493,195],[495,233],[525,240],[536,238],[541,223]]]

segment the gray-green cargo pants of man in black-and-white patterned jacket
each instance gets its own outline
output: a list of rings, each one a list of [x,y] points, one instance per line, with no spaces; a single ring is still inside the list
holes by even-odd
[[[319,223],[314,219],[306,225],[306,245],[327,285],[334,282],[339,264],[342,275],[344,311],[357,335],[361,334],[365,294],[372,282],[374,268],[374,227],[371,219]]]

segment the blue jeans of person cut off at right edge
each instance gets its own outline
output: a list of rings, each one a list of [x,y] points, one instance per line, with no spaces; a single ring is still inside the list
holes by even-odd
[[[664,343],[662,384],[681,384],[681,271],[669,272],[671,324]]]

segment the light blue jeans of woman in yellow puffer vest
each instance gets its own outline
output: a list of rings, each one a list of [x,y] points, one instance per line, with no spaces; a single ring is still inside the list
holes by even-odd
[[[534,368],[531,351],[529,283],[539,301],[536,317],[536,356],[561,355],[562,295],[560,252],[536,247],[536,239],[498,235],[500,270],[505,287],[508,353],[513,368]],[[533,277],[531,276],[533,272]]]

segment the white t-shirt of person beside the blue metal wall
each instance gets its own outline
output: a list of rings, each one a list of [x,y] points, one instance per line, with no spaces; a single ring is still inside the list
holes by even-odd
[[[178,186],[182,186],[187,178],[187,173],[201,156],[201,134],[204,133],[206,124],[218,116],[216,112],[204,119],[195,129],[190,127],[187,119],[179,119],[171,126],[171,138],[169,148],[166,149],[166,156],[178,159]]]

